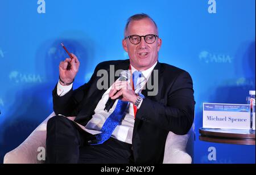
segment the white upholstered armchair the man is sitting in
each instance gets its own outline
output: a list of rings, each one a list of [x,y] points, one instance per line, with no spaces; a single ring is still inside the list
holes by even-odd
[[[44,163],[40,157],[40,153],[45,150],[40,148],[46,147],[46,125],[49,118],[55,116],[51,113],[36,129],[28,136],[26,140],[14,150],[6,153],[4,164],[40,164]],[[192,133],[192,134],[191,134]],[[192,138],[192,139],[191,139]],[[186,151],[187,142],[190,150],[193,150],[193,131],[189,131],[186,135],[176,135],[170,132],[167,136],[166,147],[164,149],[163,163],[183,163],[191,164],[192,155]],[[192,147],[192,148],[191,148]],[[39,149],[39,150],[38,150]]]

